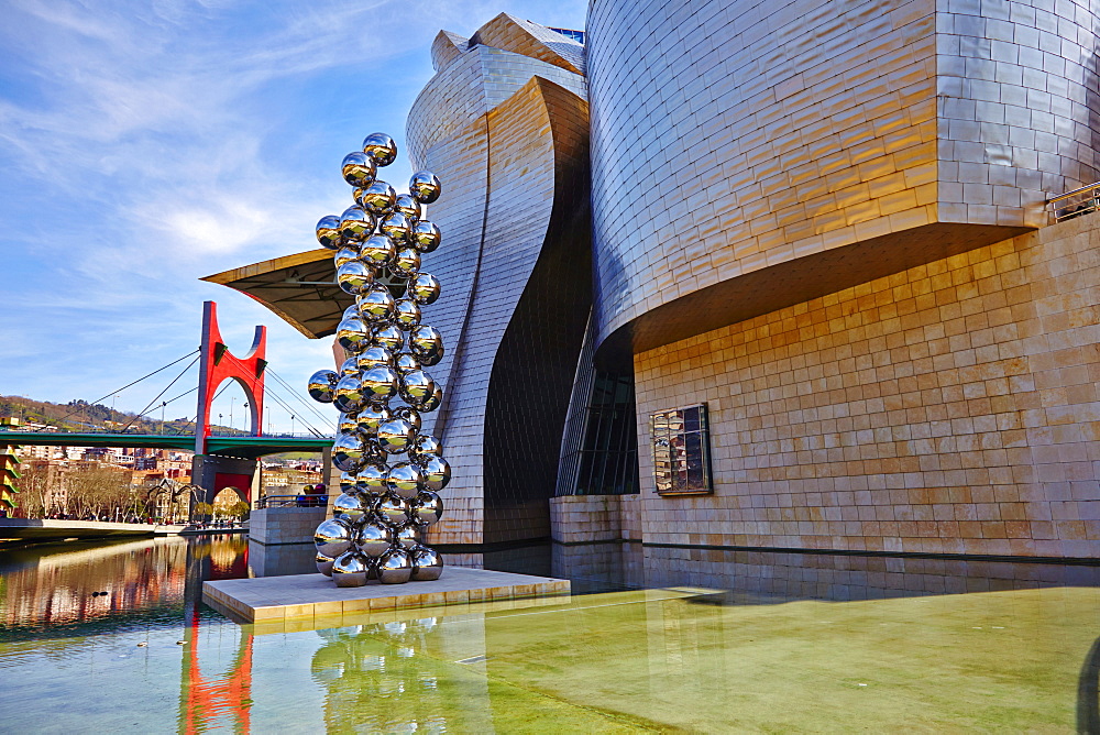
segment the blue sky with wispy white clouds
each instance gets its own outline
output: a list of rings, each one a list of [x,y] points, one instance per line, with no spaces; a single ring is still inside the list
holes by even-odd
[[[405,187],[405,121],[441,29],[469,36],[501,12],[583,29],[586,4],[0,0],[0,395],[160,406],[197,384],[190,358],[118,388],[194,351],[215,300],[230,350],[266,325],[271,370],[309,404],[270,376],[290,410],[267,402],[264,429],[329,432],[305,385],[330,340],[199,278],[316,248],[369,133],[397,141],[380,173]],[[243,403],[232,384],[213,414],[246,428]],[[190,419],[196,394],[163,410]]]

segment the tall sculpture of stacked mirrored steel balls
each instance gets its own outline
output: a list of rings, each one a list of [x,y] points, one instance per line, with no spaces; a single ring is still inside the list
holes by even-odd
[[[443,513],[439,491],[451,469],[439,439],[420,432],[420,414],[442,401],[424,369],[442,360],[443,340],[420,323],[421,307],[440,293],[421,256],[441,241],[425,218],[441,189],[435,174],[420,172],[408,194],[394,191],[377,171],[396,157],[389,135],[367,135],[362,152],[343,160],[355,204],[317,223],[318,242],[336,251],[337,283],[355,297],[337,327],[348,359],[339,372],[309,379],[310,396],[341,412],[332,462],[343,472],[342,494],[314,537],[317,569],[338,586],[435,580],[443,569],[422,538]]]

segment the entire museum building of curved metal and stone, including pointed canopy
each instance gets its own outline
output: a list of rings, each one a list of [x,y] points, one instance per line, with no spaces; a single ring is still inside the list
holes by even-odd
[[[1098,13],[440,32],[406,130],[444,187],[432,541],[1100,558]],[[331,256],[208,281],[324,338]]]

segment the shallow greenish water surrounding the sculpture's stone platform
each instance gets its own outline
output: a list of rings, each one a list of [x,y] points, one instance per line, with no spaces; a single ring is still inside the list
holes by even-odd
[[[196,602],[202,579],[249,574],[248,552],[0,551],[0,732],[1100,727],[1097,568],[537,548],[454,561],[585,593],[268,633]]]

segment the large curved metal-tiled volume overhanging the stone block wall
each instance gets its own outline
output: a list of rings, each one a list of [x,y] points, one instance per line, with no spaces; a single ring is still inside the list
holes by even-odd
[[[1048,195],[1098,178],[1098,9],[593,0],[598,342],[651,349],[1045,224]]]

